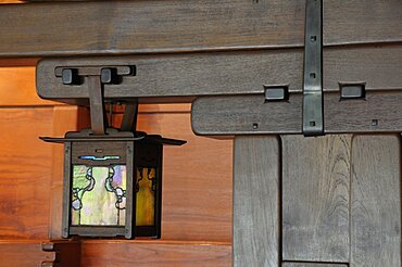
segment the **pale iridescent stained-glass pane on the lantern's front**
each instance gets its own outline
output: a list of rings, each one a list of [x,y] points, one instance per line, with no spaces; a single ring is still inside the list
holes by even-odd
[[[73,226],[124,226],[126,166],[73,166]]]

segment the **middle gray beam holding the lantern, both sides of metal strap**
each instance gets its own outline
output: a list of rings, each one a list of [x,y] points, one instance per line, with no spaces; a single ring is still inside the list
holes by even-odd
[[[110,65],[135,65],[137,69],[135,76],[124,76],[121,85],[105,85],[105,98],[114,100],[156,102],[179,97],[188,102],[200,96],[259,94],[264,93],[264,86],[277,85],[302,92],[302,49],[45,60],[37,67],[37,91],[49,100],[86,101],[87,81],[63,85],[54,69]],[[339,82],[357,81],[365,82],[366,90],[402,89],[400,69],[400,44],[324,49],[326,91],[339,91]]]

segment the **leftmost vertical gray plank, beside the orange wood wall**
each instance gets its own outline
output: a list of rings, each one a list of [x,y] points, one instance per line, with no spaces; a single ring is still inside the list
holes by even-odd
[[[278,139],[236,138],[234,165],[234,266],[278,267]]]

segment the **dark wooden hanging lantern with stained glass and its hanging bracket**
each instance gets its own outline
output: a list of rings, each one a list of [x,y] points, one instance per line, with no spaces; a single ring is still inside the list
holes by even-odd
[[[64,85],[88,82],[91,129],[41,138],[64,143],[62,236],[160,238],[163,144],[185,141],[136,131],[136,102],[126,104],[121,129],[106,128],[103,84],[118,81],[113,74],[123,71],[76,77],[86,72],[60,69],[59,76]]]

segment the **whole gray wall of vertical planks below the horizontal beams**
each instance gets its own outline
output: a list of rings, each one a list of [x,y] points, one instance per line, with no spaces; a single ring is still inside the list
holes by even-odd
[[[400,136],[242,137],[235,153],[235,266],[401,266]]]

